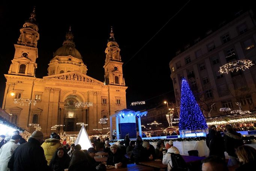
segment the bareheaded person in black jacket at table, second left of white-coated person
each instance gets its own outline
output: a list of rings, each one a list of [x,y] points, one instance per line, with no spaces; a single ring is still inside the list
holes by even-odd
[[[140,156],[142,161],[152,161],[156,159],[155,148],[148,141],[144,141],[142,144],[142,149],[140,151]]]

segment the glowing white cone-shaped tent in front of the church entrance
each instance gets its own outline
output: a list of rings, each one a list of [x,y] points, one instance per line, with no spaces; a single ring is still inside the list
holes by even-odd
[[[80,144],[82,150],[88,150],[90,147],[93,147],[90,138],[84,128],[84,125],[82,125],[80,132],[77,136],[77,140],[75,141],[75,145],[77,144]]]

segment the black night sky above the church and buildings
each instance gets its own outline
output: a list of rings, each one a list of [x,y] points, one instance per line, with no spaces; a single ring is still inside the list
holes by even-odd
[[[188,3],[187,3],[188,2]],[[127,108],[139,110],[164,100],[174,100],[169,62],[175,52],[193,42],[206,31],[218,26],[229,16],[251,5],[246,1],[109,1],[108,3],[0,4],[0,104],[5,77],[14,57],[20,28],[36,6],[39,26],[38,68],[36,77],[47,76],[53,52],[62,46],[69,25],[77,50],[87,65],[87,75],[104,82],[105,48],[113,26],[114,37],[121,49]],[[85,3],[85,4],[84,4]],[[185,5],[187,3],[187,5]],[[181,9],[184,7],[183,9]],[[179,11],[180,10],[180,11]],[[176,14],[176,15],[175,15]],[[168,22],[169,21],[169,22]],[[154,36],[155,35],[155,36]],[[148,42],[148,43],[147,43]],[[133,101],[146,105],[130,106]]]

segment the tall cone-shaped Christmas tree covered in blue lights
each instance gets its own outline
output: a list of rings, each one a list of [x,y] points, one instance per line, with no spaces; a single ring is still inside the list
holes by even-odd
[[[194,95],[183,77],[181,84],[181,112],[179,130],[207,129],[205,118],[198,106]]]

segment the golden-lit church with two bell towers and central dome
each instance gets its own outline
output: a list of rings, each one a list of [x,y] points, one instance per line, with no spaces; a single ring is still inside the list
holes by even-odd
[[[2,108],[11,114],[10,122],[30,132],[35,130],[29,126],[31,123],[40,124],[45,135],[54,132],[51,130],[54,125],[63,125],[58,126],[56,132],[79,131],[81,127],[76,123],[83,122],[88,124],[86,129],[90,133],[110,126],[109,120],[107,124],[100,124],[101,118],[109,118],[110,114],[126,108],[123,63],[113,30],[105,50],[104,83],[86,75],[87,66],[73,39],[69,29],[63,46],[48,64],[48,76],[36,78],[39,33],[33,10],[20,29],[14,58],[5,74]]]

